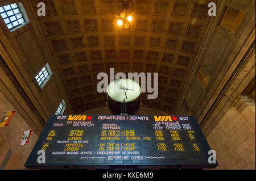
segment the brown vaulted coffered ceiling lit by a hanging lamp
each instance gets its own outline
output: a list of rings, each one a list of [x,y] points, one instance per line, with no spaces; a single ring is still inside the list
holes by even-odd
[[[158,72],[158,99],[143,94],[143,106],[173,113],[213,1],[137,0],[129,10],[134,12],[129,29],[117,26],[121,5],[112,0],[32,1],[35,12],[38,2],[46,3],[39,24],[75,113],[105,106],[106,94],[97,92],[96,76],[109,68],[115,73]]]

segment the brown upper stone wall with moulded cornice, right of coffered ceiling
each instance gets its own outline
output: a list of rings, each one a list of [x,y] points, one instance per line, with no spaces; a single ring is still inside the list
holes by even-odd
[[[220,1],[217,9],[175,111],[189,110],[205,136],[255,77],[255,1]],[[227,9],[246,12],[236,33],[220,24]]]

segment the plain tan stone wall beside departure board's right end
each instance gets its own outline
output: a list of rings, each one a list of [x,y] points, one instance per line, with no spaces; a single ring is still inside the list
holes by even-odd
[[[255,170],[255,103],[236,105],[226,112],[207,140],[216,150],[216,169]]]

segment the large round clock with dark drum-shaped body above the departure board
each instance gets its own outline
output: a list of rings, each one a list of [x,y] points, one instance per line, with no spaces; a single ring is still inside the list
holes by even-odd
[[[131,79],[117,79],[108,86],[109,111],[115,115],[133,115],[141,106],[141,87]]]

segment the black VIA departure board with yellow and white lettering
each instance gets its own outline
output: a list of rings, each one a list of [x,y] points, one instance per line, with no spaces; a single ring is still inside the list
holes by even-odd
[[[218,163],[208,162],[209,150],[192,116],[52,115],[25,166],[214,168]],[[43,159],[45,162],[38,162]]]

